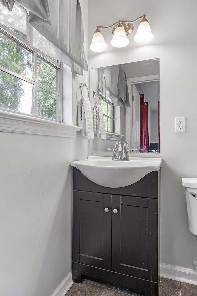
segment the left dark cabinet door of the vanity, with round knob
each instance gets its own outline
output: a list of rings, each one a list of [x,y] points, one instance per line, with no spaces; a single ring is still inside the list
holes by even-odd
[[[74,191],[73,261],[111,269],[111,195]]]

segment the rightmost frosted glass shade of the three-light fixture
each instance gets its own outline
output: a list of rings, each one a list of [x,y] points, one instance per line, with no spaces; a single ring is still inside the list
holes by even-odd
[[[148,43],[154,38],[151,32],[151,27],[147,21],[140,22],[138,31],[134,36],[134,40],[137,43]]]

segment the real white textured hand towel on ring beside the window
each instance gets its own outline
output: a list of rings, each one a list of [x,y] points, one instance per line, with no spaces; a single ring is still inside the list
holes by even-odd
[[[78,104],[78,126],[81,127],[83,140],[94,139],[91,104],[85,97]]]

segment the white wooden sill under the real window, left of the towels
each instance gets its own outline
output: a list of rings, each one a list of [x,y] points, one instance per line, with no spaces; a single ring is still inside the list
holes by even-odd
[[[80,127],[0,110],[0,131],[75,138]]]

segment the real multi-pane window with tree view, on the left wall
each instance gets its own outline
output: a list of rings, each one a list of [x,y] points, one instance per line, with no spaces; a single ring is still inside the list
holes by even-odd
[[[61,121],[61,66],[25,39],[0,29],[0,109]]]

